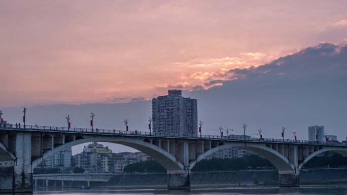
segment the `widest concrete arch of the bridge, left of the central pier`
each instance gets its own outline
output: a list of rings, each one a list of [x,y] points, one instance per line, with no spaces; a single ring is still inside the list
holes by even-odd
[[[88,137],[84,139],[67,142],[61,146],[58,146],[52,150],[47,151],[46,153],[43,154],[42,158],[34,160],[31,163],[31,169],[33,170],[33,168],[37,167],[43,160],[50,157],[50,155],[53,155],[54,153],[62,151],[65,148],[69,148],[78,144],[83,144],[83,143],[88,143],[93,141],[109,142],[109,143],[126,145],[150,155],[159,164],[161,164],[167,171],[184,170],[183,164],[181,162],[178,162],[174,155],[169,154],[167,151],[163,150],[162,148],[159,148],[158,146],[154,144],[144,141],[142,138],[134,139],[134,138],[127,138],[127,137],[106,137],[106,136]]]

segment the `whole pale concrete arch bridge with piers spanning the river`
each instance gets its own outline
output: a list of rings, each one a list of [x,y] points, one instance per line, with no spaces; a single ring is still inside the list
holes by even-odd
[[[299,170],[322,152],[347,157],[347,145],[339,142],[6,126],[0,128],[0,192],[32,192],[33,168],[54,153],[92,141],[122,144],[150,155],[167,170],[168,189],[189,189],[191,169],[208,155],[229,147],[262,155],[279,171],[281,187],[299,186]]]

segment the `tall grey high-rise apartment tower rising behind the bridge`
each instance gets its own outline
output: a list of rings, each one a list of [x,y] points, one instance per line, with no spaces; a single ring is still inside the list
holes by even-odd
[[[197,100],[182,97],[181,90],[152,100],[153,133],[197,135]]]

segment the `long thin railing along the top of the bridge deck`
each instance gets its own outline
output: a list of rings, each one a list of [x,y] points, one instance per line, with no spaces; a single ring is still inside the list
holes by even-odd
[[[216,139],[216,140],[233,140],[233,141],[252,141],[252,142],[285,142],[285,143],[303,143],[303,144],[319,144],[319,145],[334,145],[334,146],[347,146],[345,142],[338,141],[307,141],[307,140],[292,140],[292,139],[275,139],[275,138],[254,138],[250,136],[219,136],[219,135],[191,135],[180,133],[160,133],[148,131],[125,131],[125,130],[106,130],[106,129],[88,129],[88,128],[68,128],[68,127],[52,127],[52,126],[38,126],[38,125],[20,125],[20,124],[3,124],[0,126],[2,129],[10,130],[40,130],[40,131],[59,131],[59,132],[78,132],[78,133],[92,133],[92,134],[110,134],[110,135],[136,135],[136,136],[153,136],[153,137],[168,137],[168,138],[200,138],[200,139]]]

